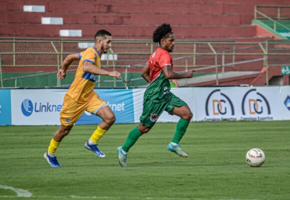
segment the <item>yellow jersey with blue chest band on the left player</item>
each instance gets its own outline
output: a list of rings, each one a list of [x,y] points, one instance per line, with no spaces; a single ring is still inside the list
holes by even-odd
[[[93,95],[94,83],[98,75],[84,72],[83,63],[90,62],[100,68],[100,53],[95,47],[88,47],[85,51],[78,53],[79,62],[75,72],[74,80],[66,94],[78,103],[87,102]]]

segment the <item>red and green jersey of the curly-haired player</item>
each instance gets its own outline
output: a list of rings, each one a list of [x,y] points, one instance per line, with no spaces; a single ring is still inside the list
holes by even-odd
[[[170,82],[165,78],[162,67],[169,65],[173,68],[171,55],[168,51],[157,48],[150,55],[147,64],[150,69],[150,81],[144,93],[144,100],[150,99],[154,102],[166,100],[171,95]]]

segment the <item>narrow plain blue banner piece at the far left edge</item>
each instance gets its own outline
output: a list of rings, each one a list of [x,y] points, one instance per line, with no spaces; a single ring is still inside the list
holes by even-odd
[[[0,125],[11,125],[10,89],[0,89]]]

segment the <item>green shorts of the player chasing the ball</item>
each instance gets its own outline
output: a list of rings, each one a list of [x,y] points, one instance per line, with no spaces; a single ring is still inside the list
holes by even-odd
[[[140,122],[142,125],[152,127],[164,110],[171,114],[171,110],[174,107],[180,107],[183,105],[187,104],[174,94],[172,94],[171,97],[169,97],[167,100],[160,102],[152,102],[147,100],[143,104],[143,111],[142,115],[140,116]]]

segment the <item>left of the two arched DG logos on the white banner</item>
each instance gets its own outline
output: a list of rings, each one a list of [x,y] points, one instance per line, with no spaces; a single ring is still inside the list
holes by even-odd
[[[209,108],[212,108],[213,115],[224,115],[229,111],[231,115],[234,115],[234,108],[231,100],[227,95],[220,92],[220,89],[215,89],[206,98],[205,113],[209,115]],[[228,110],[229,109],[229,110]]]

